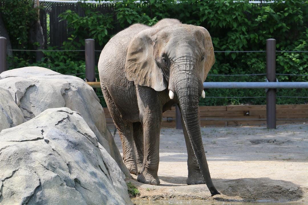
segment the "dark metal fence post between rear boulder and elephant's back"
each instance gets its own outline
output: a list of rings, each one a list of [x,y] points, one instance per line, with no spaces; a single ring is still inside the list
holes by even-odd
[[[95,82],[95,41],[94,39],[86,39],[84,42],[86,54],[86,80],[88,82]]]

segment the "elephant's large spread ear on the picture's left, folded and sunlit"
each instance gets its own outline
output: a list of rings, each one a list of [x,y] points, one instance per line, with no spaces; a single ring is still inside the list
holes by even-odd
[[[148,86],[156,91],[167,88],[167,81],[154,58],[154,44],[157,29],[150,28],[141,31],[128,46],[125,76],[135,85]]]

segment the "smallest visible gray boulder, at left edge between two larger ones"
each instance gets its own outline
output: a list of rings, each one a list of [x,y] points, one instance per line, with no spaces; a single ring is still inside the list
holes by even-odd
[[[0,131],[23,122],[21,110],[15,104],[8,89],[0,87]]]

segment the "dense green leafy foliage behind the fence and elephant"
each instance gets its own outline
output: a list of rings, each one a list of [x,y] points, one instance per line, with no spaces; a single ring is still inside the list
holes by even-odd
[[[87,4],[83,4],[86,17],[80,17],[70,10],[60,14],[72,31],[63,47],[58,49],[83,49],[86,38],[93,38],[103,46],[112,37],[111,30],[114,28],[121,30],[134,23],[152,26],[162,18],[177,18],[183,23],[203,26],[209,30],[215,51],[265,50],[268,38],[276,39],[277,50],[308,50],[308,1],[278,0],[274,3],[250,4],[248,1],[233,0],[183,0],[180,3],[176,0],[147,0],[140,3],[123,0],[116,1],[113,5],[115,14],[99,14]],[[27,53],[19,56],[22,59],[13,61],[19,62],[19,67],[37,64],[48,66],[60,73],[84,73],[83,52],[79,54],[45,52],[45,54],[45,59],[39,63],[33,63],[33,57],[29,57],[31,55]],[[99,53],[96,54],[98,59]],[[266,72],[265,53],[215,53],[215,58],[216,63],[209,74]],[[276,72],[307,75],[307,59],[308,53],[277,52]],[[24,65],[20,66],[21,64]],[[308,81],[307,76],[277,76],[277,78],[279,81]],[[209,76],[206,81],[264,80],[265,76]],[[279,89],[277,95],[308,97],[304,89]],[[265,96],[265,92],[263,89],[209,89],[206,91],[206,96],[254,97]],[[104,106],[103,98],[101,102]],[[277,98],[277,103],[300,104],[307,103],[307,99]],[[200,104],[265,104],[265,98],[205,98],[201,99]]]

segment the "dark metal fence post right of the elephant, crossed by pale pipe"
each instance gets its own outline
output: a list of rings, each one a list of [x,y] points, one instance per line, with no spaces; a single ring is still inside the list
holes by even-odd
[[[276,82],[276,40],[266,40],[266,78]],[[276,129],[276,89],[266,92],[266,127]]]

